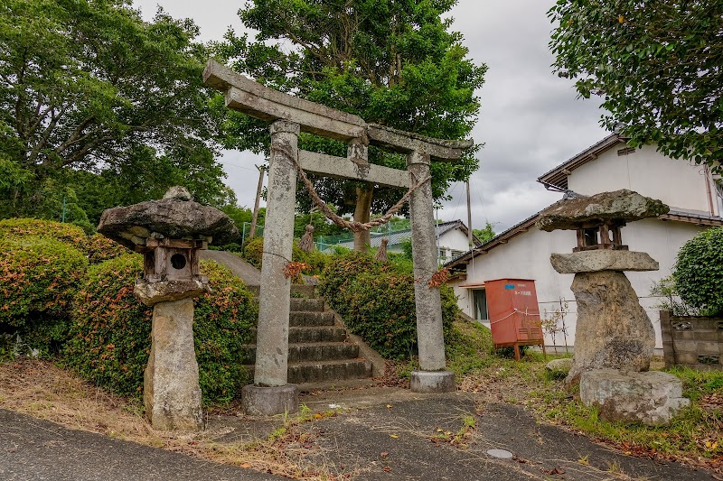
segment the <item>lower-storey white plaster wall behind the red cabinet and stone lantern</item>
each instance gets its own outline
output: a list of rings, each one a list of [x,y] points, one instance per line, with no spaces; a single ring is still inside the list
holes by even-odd
[[[623,228],[624,244],[630,250],[647,252],[660,263],[660,271],[646,273],[625,273],[634,291],[641,298],[641,305],[647,311],[655,328],[656,347],[662,347],[660,316],[655,307],[660,299],[650,296],[654,282],[671,273],[675,256],[681,245],[690,237],[702,230],[693,224],[675,221],[645,219],[631,223]],[[469,289],[460,286],[482,285],[494,279],[533,279],[540,305],[541,317],[549,317],[560,310],[560,301],[568,302],[565,313],[568,346],[575,344],[575,323],[577,306],[575,296],[570,291],[573,274],[559,274],[549,264],[549,254],[553,252],[569,253],[577,245],[575,233],[572,231],[554,231],[551,233],[531,229],[512,239],[505,245],[498,245],[488,254],[477,255],[474,262],[467,264],[465,281],[453,283],[455,294],[459,296],[458,305],[469,316],[473,315]],[[561,321],[559,322],[561,327]],[[557,334],[554,343],[547,335],[548,346],[564,346],[565,338]]]

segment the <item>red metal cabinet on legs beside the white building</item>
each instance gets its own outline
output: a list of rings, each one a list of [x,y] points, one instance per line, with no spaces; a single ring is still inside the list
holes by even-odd
[[[544,352],[535,282],[497,279],[485,281],[484,290],[495,349],[512,346],[517,359],[520,358],[520,346],[540,345]]]

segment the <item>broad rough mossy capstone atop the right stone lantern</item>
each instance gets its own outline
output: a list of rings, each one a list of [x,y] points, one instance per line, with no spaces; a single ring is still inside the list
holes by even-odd
[[[627,223],[667,214],[669,210],[660,200],[623,189],[559,200],[540,212],[535,225],[546,232],[575,230],[587,222],[615,219]]]

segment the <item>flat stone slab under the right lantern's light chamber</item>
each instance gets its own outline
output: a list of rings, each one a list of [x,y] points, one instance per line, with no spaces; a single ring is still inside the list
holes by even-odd
[[[561,274],[600,271],[657,271],[660,264],[650,254],[634,251],[598,249],[571,254],[551,254],[549,262]]]

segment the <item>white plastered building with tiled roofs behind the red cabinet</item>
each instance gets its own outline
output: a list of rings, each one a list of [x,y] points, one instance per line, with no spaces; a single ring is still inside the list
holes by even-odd
[[[723,192],[709,170],[684,160],[657,153],[654,147],[628,147],[618,134],[577,154],[538,181],[549,190],[573,190],[579,194],[628,189],[661,199],[671,211],[661,217],[633,222],[622,229],[623,244],[631,251],[651,254],[660,271],[626,273],[643,308],[653,320],[656,347],[662,347],[660,317],[662,301],[650,295],[653,283],[670,275],[681,245],[701,230],[723,225]],[[560,193],[560,197],[562,193]],[[535,281],[540,316],[550,318],[563,310],[567,344],[575,343],[576,304],[570,291],[573,274],[559,274],[549,264],[549,254],[570,253],[577,245],[574,231],[540,231],[537,214],[507,229],[489,242],[446,264],[458,275],[449,282],[459,296],[459,306],[474,319],[486,319],[484,282],[494,279]],[[565,306],[567,305],[567,310]],[[559,317],[559,315],[558,315]],[[562,319],[559,321],[561,327]],[[562,333],[546,335],[548,346],[564,346]]]

